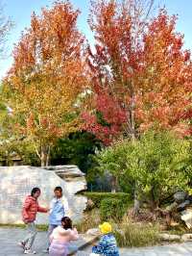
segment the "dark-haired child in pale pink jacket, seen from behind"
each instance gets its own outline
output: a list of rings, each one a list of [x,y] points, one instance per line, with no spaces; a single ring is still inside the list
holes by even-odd
[[[50,236],[49,255],[67,256],[69,243],[78,239],[78,231],[72,228],[72,220],[68,217],[61,218],[61,226],[55,228]]]

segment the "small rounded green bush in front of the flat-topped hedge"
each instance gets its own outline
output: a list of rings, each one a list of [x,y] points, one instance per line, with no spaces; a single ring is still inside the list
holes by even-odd
[[[100,217],[103,221],[114,219],[120,221],[127,211],[127,205],[123,201],[114,198],[103,199],[100,207]]]

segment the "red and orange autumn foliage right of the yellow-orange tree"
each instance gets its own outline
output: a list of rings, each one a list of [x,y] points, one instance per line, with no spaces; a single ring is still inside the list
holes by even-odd
[[[160,10],[149,18],[150,2],[146,12],[142,2],[148,1],[92,2],[92,105],[84,126],[107,144],[150,128],[192,131],[192,64],[175,30],[177,17]]]

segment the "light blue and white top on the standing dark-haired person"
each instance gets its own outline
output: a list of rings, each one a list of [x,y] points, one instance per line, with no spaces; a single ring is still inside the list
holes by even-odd
[[[51,225],[60,225],[60,220],[66,215],[66,211],[68,210],[68,203],[64,200],[63,197],[56,198],[54,197],[50,204],[50,215],[49,215],[49,223]]]

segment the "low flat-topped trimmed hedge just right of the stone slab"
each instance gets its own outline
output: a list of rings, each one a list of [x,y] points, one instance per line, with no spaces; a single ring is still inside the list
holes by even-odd
[[[84,192],[84,195],[93,201],[96,208],[101,207],[104,199],[118,199],[126,205],[132,202],[131,195],[125,192]]]

